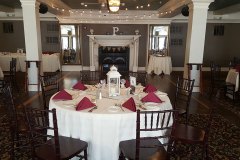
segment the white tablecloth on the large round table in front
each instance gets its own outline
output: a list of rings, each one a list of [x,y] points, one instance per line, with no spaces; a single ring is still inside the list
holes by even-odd
[[[133,96],[136,103],[146,93]],[[73,104],[77,104],[84,96],[95,98],[93,91],[79,91],[74,100],[50,100],[49,108],[56,108],[58,131],[62,136],[79,138],[88,143],[89,160],[117,160],[119,156],[119,142],[136,138],[136,112],[124,108],[111,110],[116,103],[123,103],[129,96],[120,96],[116,99],[97,100],[98,108],[93,112],[89,109],[76,111]],[[171,102],[166,95],[159,97],[164,101],[155,109],[172,109]],[[116,111],[116,112],[113,112]]]

